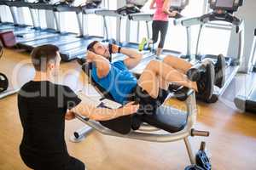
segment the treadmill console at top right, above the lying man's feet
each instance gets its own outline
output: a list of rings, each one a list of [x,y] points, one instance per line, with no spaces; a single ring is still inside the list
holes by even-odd
[[[209,0],[210,8],[213,10],[222,9],[229,13],[236,12],[243,4],[243,0]]]

